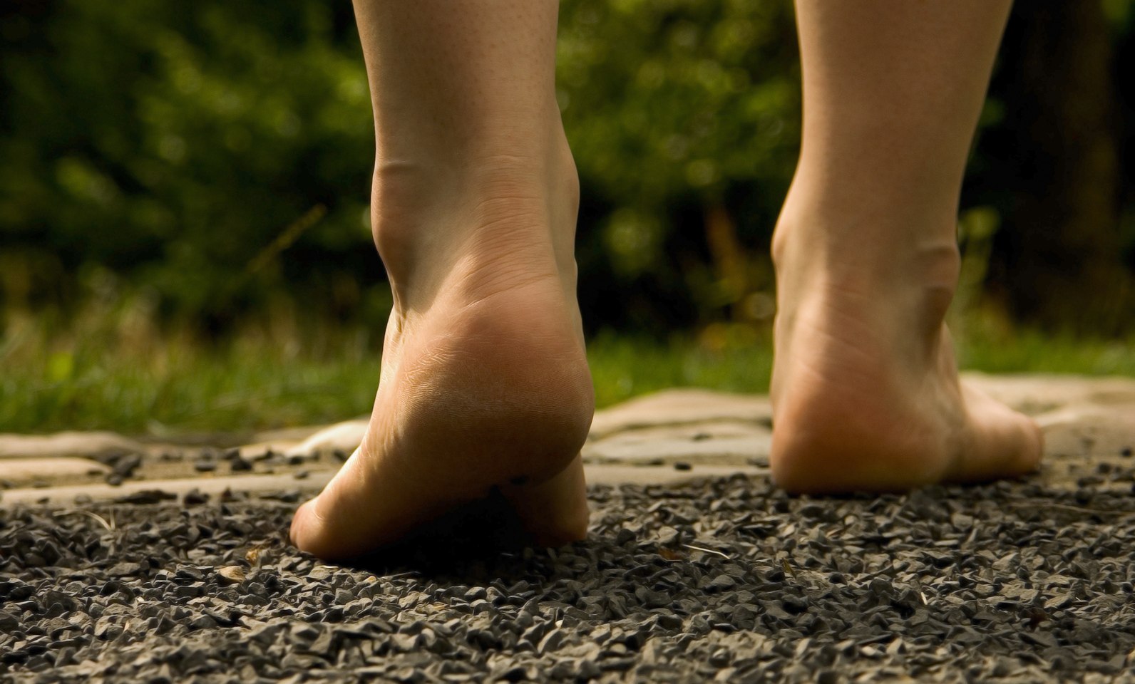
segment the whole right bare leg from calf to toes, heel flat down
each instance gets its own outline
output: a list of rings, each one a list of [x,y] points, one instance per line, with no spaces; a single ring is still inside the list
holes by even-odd
[[[773,474],[799,491],[1018,474],[1027,419],[958,382],[956,214],[1006,1],[798,0],[800,163],[773,240]]]

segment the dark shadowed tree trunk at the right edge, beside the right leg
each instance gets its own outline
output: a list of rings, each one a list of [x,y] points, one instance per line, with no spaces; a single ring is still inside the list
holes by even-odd
[[[1016,319],[1115,333],[1135,324],[1124,261],[1116,35],[1098,0],[1018,2],[994,92],[1003,121],[982,151],[1004,213],[993,282]],[[1130,2],[1107,3],[1112,25]],[[998,187],[999,186],[999,187]]]

